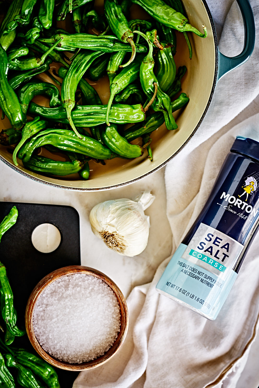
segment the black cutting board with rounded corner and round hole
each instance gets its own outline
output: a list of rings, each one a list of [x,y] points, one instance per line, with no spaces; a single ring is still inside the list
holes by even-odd
[[[18,218],[1,239],[0,261],[6,267],[14,294],[18,326],[24,327],[26,303],[36,284],[57,268],[81,264],[79,215],[71,206],[0,202],[0,223],[12,206],[17,207]],[[31,242],[31,233],[42,223],[52,223],[61,232],[61,243],[51,253],[37,251]],[[16,337],[12,345],[35,353],[26,334]],[[78,373],[55,369],[61,388],[72,388]]]

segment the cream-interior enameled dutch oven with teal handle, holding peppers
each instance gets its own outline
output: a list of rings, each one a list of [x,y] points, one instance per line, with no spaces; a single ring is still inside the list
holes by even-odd
[[[78,175],[67,177],[46,177],[31,172],[24,168],[22,162],[15,167],[12,163],[12,154],[6,147],[0,146],[0,158],[10,167],[21,174],[48,185],[61,187],[63,189],[94,191],[106,190],[130,184],[146,175],[158,170],[171,160],[186,145],[189,139],[198,129],[202,122],[212,99],[217,81],[236,67],[249,59],[254,49],[255,25],[252,9],[249,0],[237,0],[242,12],[245,27],[244,48],[240,55],[229,58],[218,50],[216,30],[205,0],[184,1],[189,23],[202,31],[202,24],[208,30],[205,39],[189,33],[193,45],[193,58],[188,58],[188,48],[183,39],[183,34],[177,33],[177,53],[175,56],[176,65],[187,67],[186,76],[183,78],[182,91],[185,92],[190,101],[185,109],[176,112],[178,130],[168,131],[163,125],[152,133],[153,162],[146,154],[141,158],[127,161],[126,159],[113,159],[106,163],[106,166],[90,162],[90,179],[80,180]],[[132,17],[139,16],[137,6],[132,8]],[[96,85],[103,103],[107,103],[109,97],[108,82],[104,79]],[[35,100],[38,102],[38,100]],[[46,104],[46,103],[45,103]],[[9,128],[9,122],[5,121],[5,128]],[[45,151],[43,151],[45,152]],[[49,156],[45,153],[45,156]],[[59,156],[62,160],[62,156]],[[64,160],[64,159],[63,159]]]

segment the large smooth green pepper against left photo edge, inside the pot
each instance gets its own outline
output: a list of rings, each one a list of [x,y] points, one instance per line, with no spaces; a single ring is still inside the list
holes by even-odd
[[[15,94],[11,83],[7,80],[8,57],[5,50],[0,46],[0,107],[8,117],[14,129],[20,129],[26,123],[20,102]]]

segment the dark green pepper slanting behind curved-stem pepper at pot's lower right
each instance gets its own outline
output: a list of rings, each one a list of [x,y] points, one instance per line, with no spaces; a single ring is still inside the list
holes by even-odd
[[[188,104],[189,98],[185,93],[181,93],[177,100],[172,102],[172,112],[181,109],[186,104]],[[123,136],[131,142],[132,140],[137,139],[138,137],[145,135],[146,133],[151,133],[159,128],[165,121],[162,112],[154,112],[146,120],[141,123],[137,123],[127,130],[124,131]]]

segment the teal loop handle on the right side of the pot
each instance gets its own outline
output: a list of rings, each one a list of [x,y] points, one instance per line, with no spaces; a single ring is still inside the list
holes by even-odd
[[[254,42],[256,39],[256,27],[254,24],[254,15],[249,3],[249,0],[236,0],[240,11],[242,13],[244,27],[245,27],[245,42],[243,51],[236,57],[226,57],[219,51],[219,65],[217,81],[223,77],[223,75],[229,73],[229,71],[242,65],[249,59],[250,55],[254,50]]]

